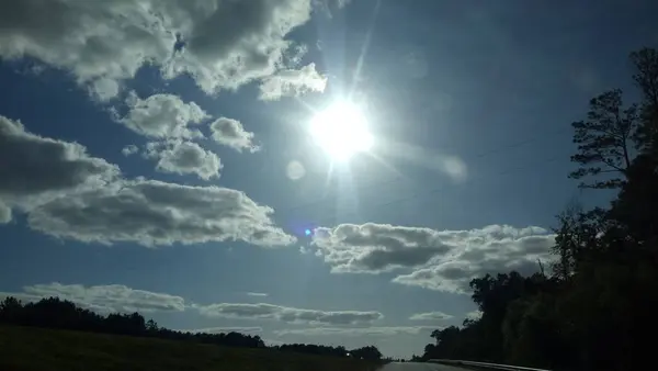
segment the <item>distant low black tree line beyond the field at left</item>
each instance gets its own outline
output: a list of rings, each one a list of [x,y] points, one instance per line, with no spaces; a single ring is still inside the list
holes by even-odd
[[[155,337],[170,340],[196,341],[225,347],[266,348],[258,335],[246,335],[237,331],[227,334],[190,333],[160,327],[152,321],[146,321],[135,312],[111,313],[100,315],[91,310],[80,307],[73,302],[59,297],[42,299],[38,302],[22,303],[8,296],[0,302],[0,324],[34,326],[45,328],[71,329],[90,333],[117,334],[140,337]],[[291,351],[321,356],[354,357],[367,360],[379,360],[382,353],[374,346],[347,350],[342,346],[330,347],[311,344],[290,344],[272,346],[279,351]]]

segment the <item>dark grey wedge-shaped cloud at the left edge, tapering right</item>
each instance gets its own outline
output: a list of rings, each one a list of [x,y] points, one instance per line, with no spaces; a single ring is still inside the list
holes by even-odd
[[[25,131],[19,121],[0,116],[0,200],[23,210],[64,192],[102,187],[120,175],[116,166],[91,157],[87,148]]]

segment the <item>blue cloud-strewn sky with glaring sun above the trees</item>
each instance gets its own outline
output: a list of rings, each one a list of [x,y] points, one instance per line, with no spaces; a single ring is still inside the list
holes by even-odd
[[[2,1],[0,296],[421,353],[472,278],[547,266],[555,215],[608,202],[567,178],[570,123],[633,97],[656,11]]]

